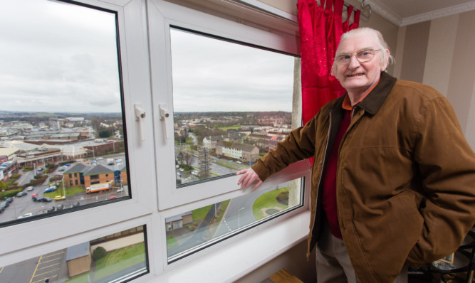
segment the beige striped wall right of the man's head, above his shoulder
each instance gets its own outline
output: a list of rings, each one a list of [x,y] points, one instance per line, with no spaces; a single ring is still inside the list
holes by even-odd
[[[395,75],[434,87],[454,107],[475,149],[475,11],[400,28]]]

